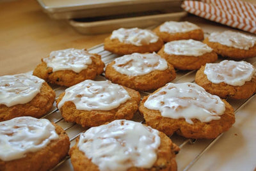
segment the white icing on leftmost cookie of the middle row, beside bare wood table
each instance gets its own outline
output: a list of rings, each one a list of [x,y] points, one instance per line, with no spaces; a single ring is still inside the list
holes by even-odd
[[[52,51],[49,57],[43,59],[52,71],[72,70],[79,73],[92,64],[91,57],[84,49],[67,48],[65,50]]]

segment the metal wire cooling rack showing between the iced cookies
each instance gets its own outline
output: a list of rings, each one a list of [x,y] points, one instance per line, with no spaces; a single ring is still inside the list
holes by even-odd
[[[88,51],[90,53],[100,54],[100,56],[102,57],[102,61],[105,64],[108,64],[109,62],[113,61],[113,59],[115,59],[116,57],[119,57],[116,54],[112,54],[111,52],[104,50],[103,43],[88,49]],[[256,57],[250,58],[250,59],[244,59],[244,61],[247,61],[248,63],[253,64],[253,66],[256,66],[255,58]],[[218,62],[220,62],[221,60],[223,59],[220,58]],[[196,70],[193,70],[193,71],[176,70],[176,73],[177,73],[177,76],[175,80],[172,81],[174,83],[195,81]],[[106,78],[104,77],[104,74],[103,74],[95,78],[95,80],[106,80]],[[63,91],[65,91],[65,88],[66,87],[58,87],[58,86],[52,85],[52,89],[54,89],[54,91],[56,92],[57,98]],[[143,96],[146,96],[150,93],[152,92],[140,92],[141,98],[143,98]],[[253,94],[253,96],[251,96],[246,100],[228,100],[227,99],[227,101],[228,103],[230,103],[230,105],[232,105],[232,107],[235,110],[235,113],[237,113],[241,108],[243,108],[248,103],[250,103],[250,101],[252,101],[252,98],[254,96],[255,94]],[[54,103],[51,111],[42,118],[49,119],[49,121],[60,125],[67,132],[67,135],[70,138],[70,147],[72,147],[75,144],[76,138],[80,135],[80,133],[86,130],[86,128],[83,128],[76,123],[67,123],[61,116],[58,108],[56,108],[56,103]],[[134,118],[132,120],[138,121],[138,122],[144,121],[143,117],[141,117],[141,115],[138,114],[138,112],[134,115]],[[170,138],[175,144],[179,145],[180,147],[181,154],[177,154],[177,156],[181,155],[179,156],[179,158],[177,158],[178,170],[189,170],[189,168],[191,168],[196,163],[196,161],[201,156],[203,156],[204,153],[207,152],[212,147],[212,145],[214,145],[219,140],[219,138],[223,134],[225,133],[222,133],[221,135],[219,135],[217,138],[213,140],[205,140],[205,139],[196,140],[196,139],[188,139],[188,138],[180,137],[179,135],[172,135],[172,137]],[[179,159],[182,159],[182,158],[186,158],[186,162],[179,161]],[[56,167],[52,168],[52,170],[61,170],[61,171],[73,170],[72,165],[70,163],[70,157],[67,156],[66,158],[64,158],[60,163],[58,163],[58,165],[56,165]]]

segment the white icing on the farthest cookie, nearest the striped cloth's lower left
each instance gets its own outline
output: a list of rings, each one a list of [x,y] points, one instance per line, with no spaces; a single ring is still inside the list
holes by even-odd
[[[164,22],[164,24],[161,25],[159,29],[161,32],[180,33],[180,32],[188,32],[188,31],[193,31],[195,29],[200,29],[200,27],[196,26],[191,22],[169,21],[169,22]]]

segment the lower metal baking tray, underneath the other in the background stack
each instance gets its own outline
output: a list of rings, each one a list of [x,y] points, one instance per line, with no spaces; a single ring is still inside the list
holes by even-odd
[[[179,21],[185,17],[185,11],[175,13],[159,13],[159,11],[150,11],[143,13],[133,13],[132,15],[115,15],[108,17],[94,17],[86,19],[71,19],[68,23],[82,34],[100,34],[110,33],[120,27],[131,28],[140,27],[147,28],[159,25],[166,20]],[[136,16],[136,17],[135,17]],[[140,17],[138,17],[140,16]]]

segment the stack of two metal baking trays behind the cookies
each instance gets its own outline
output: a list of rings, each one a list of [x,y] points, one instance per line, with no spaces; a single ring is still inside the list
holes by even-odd
[[[119,27],[140,27],[180,20],[181,0],[38,0],[52,19],[65,19],[79,33],[109,33]]]

